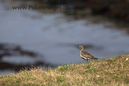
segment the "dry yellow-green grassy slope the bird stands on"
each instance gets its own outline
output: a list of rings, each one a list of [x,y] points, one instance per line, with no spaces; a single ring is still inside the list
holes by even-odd
[[[0,76],[0,86],[129,86],[129,55]]]

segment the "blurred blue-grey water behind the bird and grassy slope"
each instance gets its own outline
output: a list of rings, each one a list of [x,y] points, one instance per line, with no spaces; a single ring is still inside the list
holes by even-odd
[[[99,59],[129,52],[129,36],[117,27],[105,27],[112,25],[111,22],[93,24],[86,19],[74,20],[63,13],[6,10],[2,5],[0,12],[1,43],[20,45],[43,55],[44,58],[38,59],[52,64],[82,62],[78,49],[81,44],[91,45],[85,50]]]

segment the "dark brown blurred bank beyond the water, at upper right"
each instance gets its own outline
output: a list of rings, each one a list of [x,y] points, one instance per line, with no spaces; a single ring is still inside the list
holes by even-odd
[[[72,5],[73,9],[91,9],[93,15],[106,15],[110,18],[129,22],[128,0],[45,0],[50,5]],[[44,3],[44,2],[43,2]],[[85,16],[86,14],[84,14]]]

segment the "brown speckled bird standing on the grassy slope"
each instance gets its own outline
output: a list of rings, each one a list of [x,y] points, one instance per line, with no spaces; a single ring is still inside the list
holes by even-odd
[[[98,59],[98,58],[95,58],[94,56],[92,56],[87,51],[85,51],[83,45],[80,45],[79,48],[80,48],[80,56],[82,59],[87,60],[87,61],[89,59]]]

